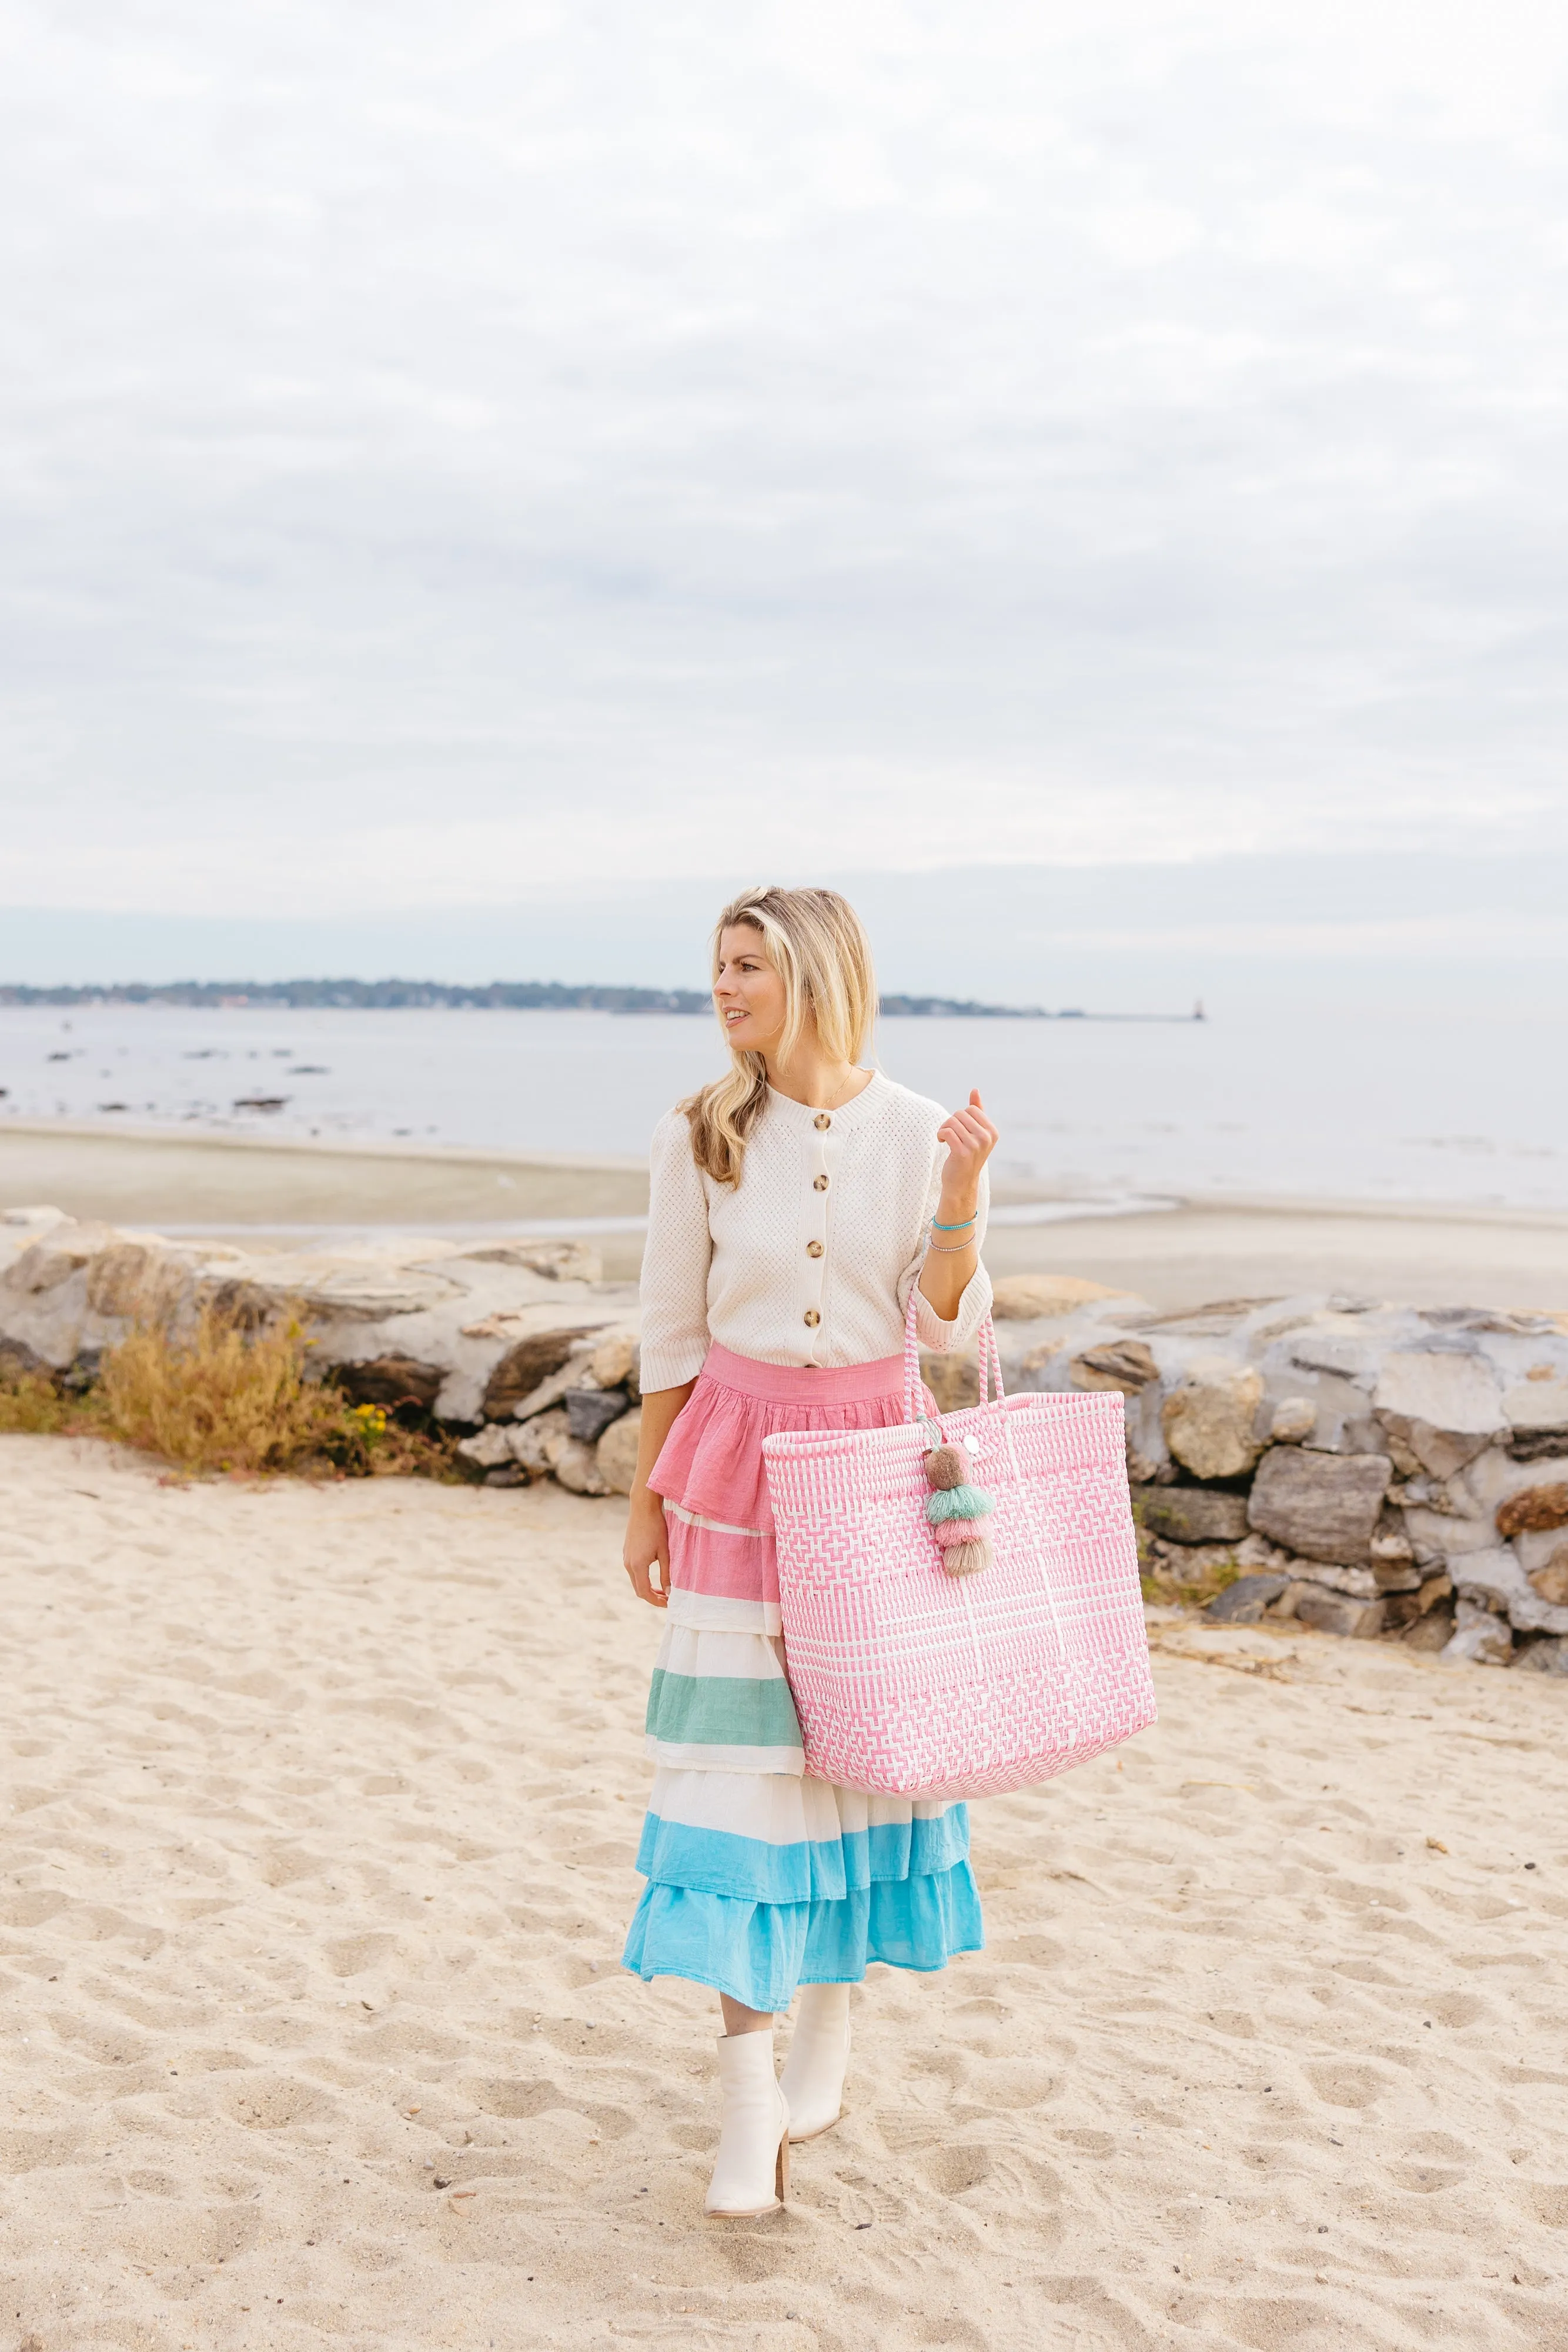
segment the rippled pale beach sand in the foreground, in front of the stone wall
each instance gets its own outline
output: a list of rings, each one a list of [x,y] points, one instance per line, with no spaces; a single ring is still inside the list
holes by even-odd
[[[712,1999],[618,1969],[614,1503],[5,1437],[0,1526],[0,2343],[1566,2343],[1568,1684],[1159,1628],[719,2225]]]

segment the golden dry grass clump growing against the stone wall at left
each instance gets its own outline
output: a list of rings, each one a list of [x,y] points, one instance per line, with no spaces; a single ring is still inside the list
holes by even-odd
[[[188,1338],[134,1329],[85,1397],[33,1374],[12,1378],[0,1385],[0,1430],[118,1437],[188,1472],[461,1475],[451,1439],[306,1378],[308,1348],[296,1319],[247,1331],[205,1308]]]

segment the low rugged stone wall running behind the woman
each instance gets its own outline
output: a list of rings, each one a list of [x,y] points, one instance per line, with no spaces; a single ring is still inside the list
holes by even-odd
[[[0,1364],[89,1378],[134,1319],[205,1301],[299,1312],[355,1402],[414,1402],[491,1484],[630,1491],[637,1291],[578,1242],[242,1251],[0,1216]],[[1568,1672],[1568,1317],[1373,1298],[1159,1315],[1091,1282],[997,1284],[1009,1388],[1119,1388],[1145,1557],[1171,1590],[1237,1573],[1232,1623],[1295,1618],[1448,1658]],[[926,1357],[938,1404],[973,1357]]]

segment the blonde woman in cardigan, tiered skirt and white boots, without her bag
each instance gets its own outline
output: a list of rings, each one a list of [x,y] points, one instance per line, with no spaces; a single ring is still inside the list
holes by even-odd
[[[717,1990],[708,2213],[752,2216],[785,2194],[788,2143],[839,2119],[867,1962],[940,1969],[983,1943],[961,1804],[802,1773],[762,1439],[903,1421],[912,1289],[926,1348],[973,1338],[997,1131],[978,1094],[943,1117],[860,1068],[877,990],[835,891],[726,906],[712,995],[733,1068],[654,1136],[625,1571],[668,1628],[625,1966]],[[797,1987],[778,2084],[773,2016]]]

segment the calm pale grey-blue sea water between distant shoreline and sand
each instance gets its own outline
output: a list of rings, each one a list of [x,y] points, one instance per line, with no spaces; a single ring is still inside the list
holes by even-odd
[[[882,1068],[1001,1129],[997,1176],[1147,1197],[1568,1209],[1568,1011],[1229,1007],[1208,1021],[884,1021]],[[705,1016],[0,1007],[0,1122],[642,1155],[715,1075]]]

